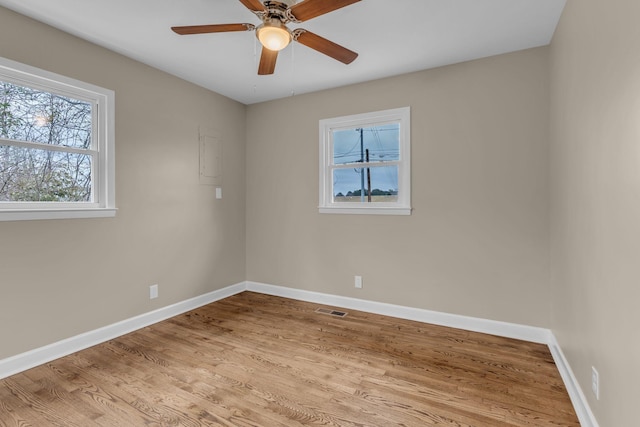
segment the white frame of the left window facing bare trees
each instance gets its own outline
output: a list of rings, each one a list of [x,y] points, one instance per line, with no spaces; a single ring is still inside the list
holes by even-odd
[[[0,221],[113,217],[115,94],[112,90],[0,57],[0,79],[92,104],[92,202],[0,202]],[[0,144],[34,147],[0,138]],[[43,147],[48,149],[49,147]]]

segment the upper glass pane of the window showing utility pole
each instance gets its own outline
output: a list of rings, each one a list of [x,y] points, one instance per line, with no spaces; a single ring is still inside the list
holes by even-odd
[[[384,162],[400,159],[400,124],[333,130],[333,164]]]

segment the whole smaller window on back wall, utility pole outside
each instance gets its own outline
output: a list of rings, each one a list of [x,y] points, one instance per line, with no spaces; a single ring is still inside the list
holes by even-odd
[[[411,214],[409,107],[320,120],[320,213]]]

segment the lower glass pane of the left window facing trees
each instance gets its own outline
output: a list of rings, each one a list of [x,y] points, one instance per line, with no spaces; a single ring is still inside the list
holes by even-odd
[[[0,145],[0,202],[92,202],[86,154]]]

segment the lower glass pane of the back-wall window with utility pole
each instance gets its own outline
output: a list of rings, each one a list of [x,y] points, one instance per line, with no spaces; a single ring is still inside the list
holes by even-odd
[[[398,201],[398,166],[333,170],[333,201],[368,203]]]

